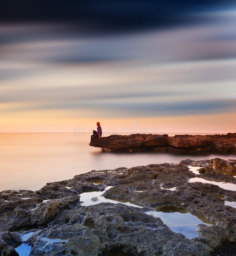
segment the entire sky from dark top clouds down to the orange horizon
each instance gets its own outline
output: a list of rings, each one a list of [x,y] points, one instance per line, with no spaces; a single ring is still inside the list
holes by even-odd
[[[236,132],[230,1],[11,3],[0,132]]]

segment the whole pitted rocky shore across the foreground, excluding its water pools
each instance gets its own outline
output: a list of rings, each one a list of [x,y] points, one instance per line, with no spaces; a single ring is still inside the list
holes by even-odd
[[[189,165],[201,167],[199,174]],[[188,182],[199,177],[236,184],[235,177],[215,168],[236,172],[236,160],[188,159],[179,164],[93,170],[47,183],[35,192],[2,191],[0,255],[18,255],[14,248],[30,231],[34,233],[24,241],[32,247],[30,255],[235,255],[236,209],[224,205],[225,200],[236,201],[235,191]],[[104,191],[106,186],[113,187],[103,196],[131,200],[143,208],[122,203],[81,205],[80,193]],[[171,187],[177,188],[165,189]],[[188,239],[160,218],[145,214],[161,205],[185,208],[214,225],[199,224],[198,235]]]

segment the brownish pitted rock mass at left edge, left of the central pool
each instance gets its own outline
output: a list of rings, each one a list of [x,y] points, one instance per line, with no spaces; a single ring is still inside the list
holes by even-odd
[[[69,187],[71,186],[71,187]],[[68,180],[47,183],[39,191],[0,192],[1,230],[44,227],[62,210],[79,202],[82,191],[103,190],[104,185]]]

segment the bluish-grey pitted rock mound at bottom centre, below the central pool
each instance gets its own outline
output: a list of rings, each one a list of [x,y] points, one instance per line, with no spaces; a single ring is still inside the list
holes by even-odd
[[[49,246],[43,237],[67,242]],[[71,255],[73,248],[74,255],[83,256],[112,255],[114,251],[131,255],[207,255],[212,251],[202,242],[171,231],[159,218],[141,209],[110,203],[64,211],[29,242],[34,244],[32,255],[37,255],[39,248],[47,255]]]

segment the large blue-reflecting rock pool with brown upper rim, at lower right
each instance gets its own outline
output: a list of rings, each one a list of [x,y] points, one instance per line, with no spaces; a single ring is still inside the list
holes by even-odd
[[[175,206],[160,206],[155,211],[145,212],[156,218],[160,218],[172,231],[181,233],[187,238],[196,237],[196,227],[198,224],[212,226],[213,223],[207,221],[203,216],[191,214],[188,209]]]

